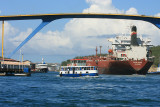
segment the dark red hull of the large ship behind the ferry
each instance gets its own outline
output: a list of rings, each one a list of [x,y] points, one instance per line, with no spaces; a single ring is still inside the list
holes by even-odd
[[[98,66],[99,74],[114,74],[114,75],[132,75],[132,74],[147,74],[153,61],[116,61],[116,60],[100,60],[87,61],[87,65]]]

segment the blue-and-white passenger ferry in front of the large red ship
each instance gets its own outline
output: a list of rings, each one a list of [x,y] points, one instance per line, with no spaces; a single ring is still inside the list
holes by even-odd
[[[96,66],[61,66],[60,77],[98,76]]]

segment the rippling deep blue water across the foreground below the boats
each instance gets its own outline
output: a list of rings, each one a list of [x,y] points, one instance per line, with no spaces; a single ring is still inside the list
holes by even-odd
[[[67,78],[49,72],[0,77],[0,106],[160,106],[160,75]]]

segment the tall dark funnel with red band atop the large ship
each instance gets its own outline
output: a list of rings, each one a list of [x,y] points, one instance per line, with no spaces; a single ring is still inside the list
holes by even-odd
[[[131,45],[133,46],[139,46],[138,42],[137,42],[137,27],[136,26],[132,26],[131,27]]]

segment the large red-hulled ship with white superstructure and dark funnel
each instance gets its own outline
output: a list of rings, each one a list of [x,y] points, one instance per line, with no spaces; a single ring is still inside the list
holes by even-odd
[[[97,56],[96,48],[96,56],[72,59],[72,64],[98,66],[99,74],[145,75],[148,72],[154,60],[150,50],[151,40],[137,37],[136,26],[132,26],[131,36],[120,35],[108,41],[112,42],[112,47],[108,50],[107,56]]]

